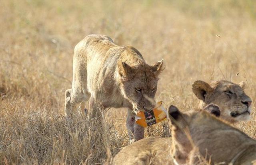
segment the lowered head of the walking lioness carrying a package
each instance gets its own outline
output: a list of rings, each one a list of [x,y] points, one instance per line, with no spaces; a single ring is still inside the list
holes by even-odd
[[[142,60],[130,65],[122,60],[118,61],[120,88],[133,108],[141,111],[150,111],[154,108],[158,75],[162,71],[162,66],[163,59],[152,66]]]

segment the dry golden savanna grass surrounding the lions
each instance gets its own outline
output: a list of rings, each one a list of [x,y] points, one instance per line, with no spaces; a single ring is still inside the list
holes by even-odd
[[[183,111],[200,79],[245,81],[256,98],[256,3],[252,0],[0,1],[0,164],[104,164],[128,144],[126,110],[103,126],[64,118],[74,46],[91,33],[133,45],[153,64],[164,59],[156,100]],[[97,66],[95,66],[97,67]],[[256,138],[256,114],[236,126]],[[168,122],[145,136],[168,137]]]

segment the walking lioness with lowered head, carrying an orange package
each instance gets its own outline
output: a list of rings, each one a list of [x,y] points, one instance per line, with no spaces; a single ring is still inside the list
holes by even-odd
[[[132,46],[120,47],[106,35],[88,35],[74,49],[72,88],[66,90],[65,113],[76,111],[76,104],[89,101],[92,118],[105,108],[128,108],[126,126],[129,136],[144,137],[144,128],[135,123],[133,109],[154,108],[158,75],[163,59],[146,64]]]

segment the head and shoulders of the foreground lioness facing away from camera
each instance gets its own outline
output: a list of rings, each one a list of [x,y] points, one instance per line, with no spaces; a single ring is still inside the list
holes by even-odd
[[[173,126],[174,162],[198,164],[200,156],[210,164],[249,165],[256,160],[256,140],[215,117],[220,114],[219,107],[213,104],[206,106],[205,110],[186,113],[170,106],[168,116]]]

